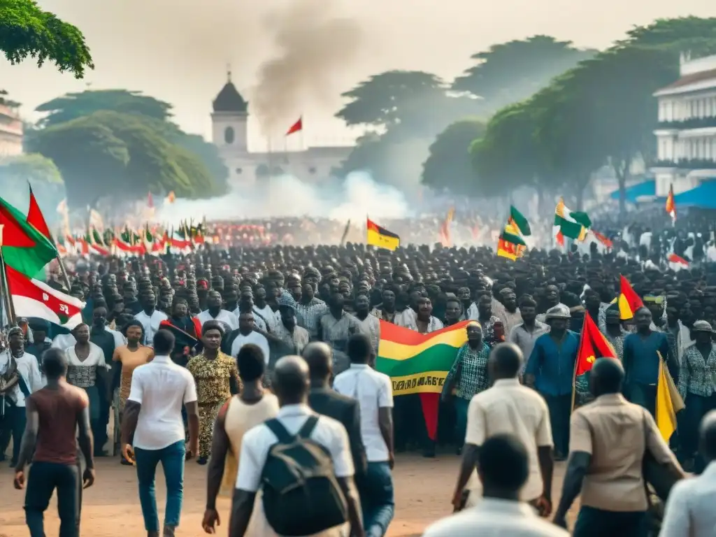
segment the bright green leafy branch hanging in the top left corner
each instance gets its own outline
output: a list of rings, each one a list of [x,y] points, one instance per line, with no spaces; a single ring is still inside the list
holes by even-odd
[[[0,49],[11,64],[29,56],[39,67],[54,62],[60,72],[72,72],[76,78],[84,77],[84,69],[95,68],[82,32],[42,11],[33,0],[0,2]]]

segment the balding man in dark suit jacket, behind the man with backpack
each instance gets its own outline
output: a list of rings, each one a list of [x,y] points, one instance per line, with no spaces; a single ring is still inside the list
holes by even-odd
[[[360,407],[358,402],[341,395],[330,387],[333,372],[331,347],[321,342],[306,345],[304,359],[309,364],[311,391],[309,407],[321,415],[332,417],[346,427],[351,445],[356,483],[360,485],[365,477],[368,462],[361,437]]]

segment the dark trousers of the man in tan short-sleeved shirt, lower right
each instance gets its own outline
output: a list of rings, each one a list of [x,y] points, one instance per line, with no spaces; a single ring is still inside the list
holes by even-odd
[[[574,524],[573,537],[647,537],[644,511],[604,511],[583,505]]]

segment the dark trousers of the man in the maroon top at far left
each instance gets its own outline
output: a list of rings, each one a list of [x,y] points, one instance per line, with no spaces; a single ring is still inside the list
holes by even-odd
[[[57,489],[59,537],[79,537],[82,482],[77,465],[33,463],[27,476],[25,520],[31,537],[45,537],[44,512]]]

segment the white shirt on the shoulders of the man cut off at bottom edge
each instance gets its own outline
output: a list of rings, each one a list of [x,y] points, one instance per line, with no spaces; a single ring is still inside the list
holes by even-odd
[[[483,498],[475,507],[428,526],[423,537],[569,537],[526,503]]]

